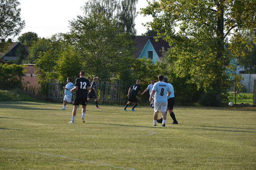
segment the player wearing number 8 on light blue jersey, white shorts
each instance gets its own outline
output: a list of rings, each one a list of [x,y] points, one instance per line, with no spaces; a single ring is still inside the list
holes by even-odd
[[[167,83],[164,82],[164,76],[158,75],[159,82],[155,83],[153,86],[153,91],[149,97],[149,101],[152,102],[152,97],[154,96],[154,120],[153,126],[157,126],[157,116],[160,110],[163,117],[162,126],[165,127],[166,124],[166,110],[167,110],[167,96],[170,95],[171,89]]]

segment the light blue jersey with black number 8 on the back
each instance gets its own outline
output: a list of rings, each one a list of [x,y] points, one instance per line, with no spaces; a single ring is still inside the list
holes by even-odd
[[[155,93],[155,103],[167,103],[167,94],[171,91],[168,83],[165,82],[157,82],[153,86],[153,91]]]

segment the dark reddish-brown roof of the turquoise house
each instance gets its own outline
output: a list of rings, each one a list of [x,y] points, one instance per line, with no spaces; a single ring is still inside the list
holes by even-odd
[[[169,43],[167,43],[165,40],[159,39],[158,41],[156,41],[153,38],[153,36],[135,36],[135,42],[136,42],[136,51],[134,53],[135,58],[139,58],[140,53],[143,50],[148,40],[150,40],[150,42],[152,43],[159,57],[162,57],[162,54],[161,54],[162,47],[164,47],[165,51],[167,51],[167,49],[169,48]]]

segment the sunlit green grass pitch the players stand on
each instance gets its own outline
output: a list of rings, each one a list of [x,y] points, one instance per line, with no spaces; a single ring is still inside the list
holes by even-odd
[[[153,127],[153,109],[0,103],[0,170],[255,170],[256,108],[176,107],[179,125]],[[131,107],[129,107],[130,109]]]

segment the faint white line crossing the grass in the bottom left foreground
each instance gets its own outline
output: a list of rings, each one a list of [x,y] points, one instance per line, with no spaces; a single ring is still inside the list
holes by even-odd
[[[71,159],[73,161],[78,161],[78,162],[86,162],[86,163],[93,163],[101,166],[108,166],[112,168],[117,168],[117,169],[122,169],[122,170],[136,170],[134,168],[125,168],[122,166],[114,166],[110,164],[105,164],[105,163],[99,163],[99,162],[94,162],[94,161],[87,161],[87,160],[82,160],[82,159],[75,159],[75,158],[70,158],[62,155],[55,155],[55,154],[47,154],[47,153],[41,153],[41,152],[30,152],[30,151],[22,151],[22,150],[15,150],[15,149],[5,149],[5,148],[0,148],[0,150],[12,150],[12,151],[18,151],[18,152],[26,152],[26,153],[32,153],[32,154],[42,154],[42,155],[47,155],[47,156],[53,156],[53,157],[59,157],[59,158],[65,158],[65,159]]]

